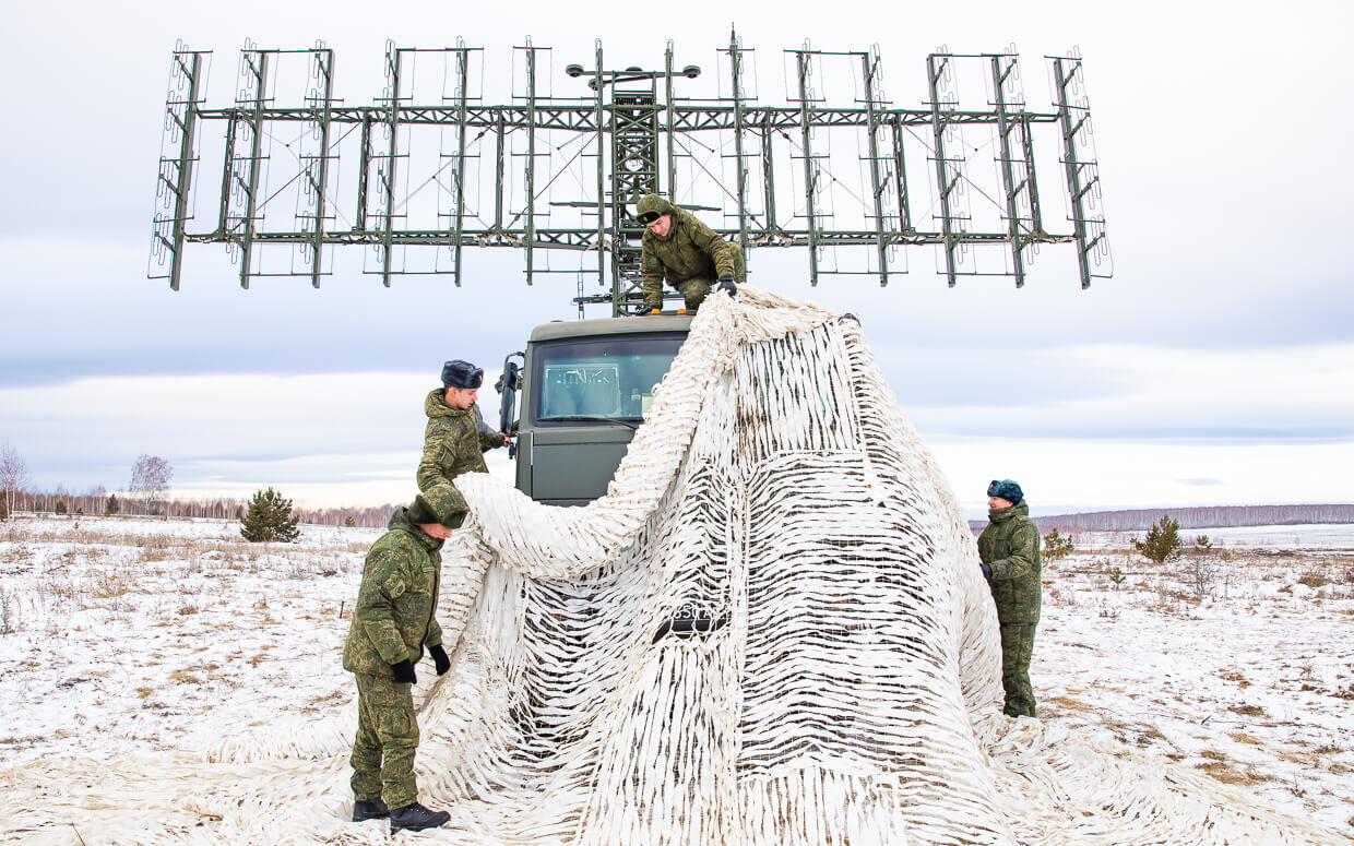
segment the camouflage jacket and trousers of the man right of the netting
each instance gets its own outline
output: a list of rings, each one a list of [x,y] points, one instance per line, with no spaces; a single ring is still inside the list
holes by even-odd
[[[1029,505],[988,512],[991,522],[978,537],[978,555],[991,567],[987,578],[1002,628],[1002,686],[1007,716],[1034,716],[1034,689],[1029,661],[1039,625],[1040,566],[1039,529],[1029,518]]]

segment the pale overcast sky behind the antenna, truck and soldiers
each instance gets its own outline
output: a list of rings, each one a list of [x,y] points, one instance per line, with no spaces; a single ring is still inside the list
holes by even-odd
[[[756,284],[861,315],[971,513],[1005,476],[1045,513],[1349,502],[1354,165],[1340,80],[1354,12],[1110,5],[22,4],[0,32],[0,443],[47,490],[116,490],[146,452],[172,463],[177,495],[272,485],[307,505],[403,501],[441,361],[494,371],[533,325],[575,315],[573,280],[527,287],[519,253],[468,256],[460,288],[348,273],[320,291],[305,279],[241,291],[225,250],[200,245],[180,292],[148,280],[176,39],[215,51],[210,107],[233,100],[245,38],[325,39],[338,96],[364,104],[380,93],[387,38],[460,37],[485,49],[492,77],[529,37],[554,47],[563,87],[563,65],[590,66],[596,39],[609,66],[659,68],[672,39],[678,65],[714,69],[735,23],[765,104],[783,104],[783,50],[806,38],[877,43],[886,92],[907,107],[922,106],[940,45],[1014,43],[1041,110],[1043,55],[1085,58],[1112,279],[1079,290],[1052,248],[1021,291],[946,288],[930,248],[883,290],[860,277],[811,288],[802,256],[750,260]]]

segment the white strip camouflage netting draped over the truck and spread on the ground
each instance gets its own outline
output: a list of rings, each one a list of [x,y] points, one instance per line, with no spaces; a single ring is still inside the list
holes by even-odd
[[[456,483],[471,516],[439,615],[456,648],[418,692],[417,761],[422,801],[452,819],[421,842],[1339,838],[1001,715],[974,536],[854,319],[712,296],[607,497],[565,509]],[[0,837],[79,843],[74,822],[85,842],[386,842],[347,822],[353,726],[15,767]]]

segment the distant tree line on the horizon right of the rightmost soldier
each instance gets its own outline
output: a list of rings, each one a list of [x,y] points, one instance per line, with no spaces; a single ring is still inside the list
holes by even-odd
[[[1354,522],[1354,505],[1210,505],[1169,510],[1181,529]],[[1040,531],[1056,527],[1064,532],[1141,532],[1152,528],[1160,516],[1162,509],[1145,508],[1034,517],[1034,522]],[[986,521],[983,524],[986,525]]]

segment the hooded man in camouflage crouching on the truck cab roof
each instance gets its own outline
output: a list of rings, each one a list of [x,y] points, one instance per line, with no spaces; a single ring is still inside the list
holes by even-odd
[[[657,194],[646,194],[635,206],[635,218],[645,225],[643,292],[645,311],[663,307],[663,282],[681,291],[686,310],[695,311],[709,288],[734,292],[735,282],[746,282],[743,250],[716,236],[685,208]]]

